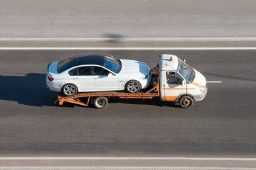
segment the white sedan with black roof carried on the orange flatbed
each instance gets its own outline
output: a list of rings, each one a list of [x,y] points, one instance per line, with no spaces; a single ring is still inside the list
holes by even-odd
[[[150,81],[150,68],[144,62],[106,55],[81,55],[52,62],[46,77],[48,89],[66,96],[89,91],[137,93],[149,86]]]

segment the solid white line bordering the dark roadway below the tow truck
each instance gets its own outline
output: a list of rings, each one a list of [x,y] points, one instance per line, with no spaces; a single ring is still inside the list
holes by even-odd
[[[0,160],[191,160],[191,161],[256,161],[256,158],[220,157],[0,157]]]

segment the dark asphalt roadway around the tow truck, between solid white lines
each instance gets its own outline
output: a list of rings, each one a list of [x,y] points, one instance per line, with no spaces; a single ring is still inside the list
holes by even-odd
[[[208,96],[182,109],[159,98],[111,98],[103,110],[54,104],[48,63],[102,53],[154,67],[158,54],[186,58]],[[1,157],[255,157],[255,50],[1,50]]]

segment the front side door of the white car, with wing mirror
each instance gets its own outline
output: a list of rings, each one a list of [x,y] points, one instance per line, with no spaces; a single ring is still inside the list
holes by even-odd
[[[95,91],[118,90],[118,78],[105,68],[93,66],[95,74]]]

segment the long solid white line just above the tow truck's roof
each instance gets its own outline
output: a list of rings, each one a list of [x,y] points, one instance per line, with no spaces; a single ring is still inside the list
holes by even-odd
[[[256,50],[256,47],[0,47],[0,50]]]

